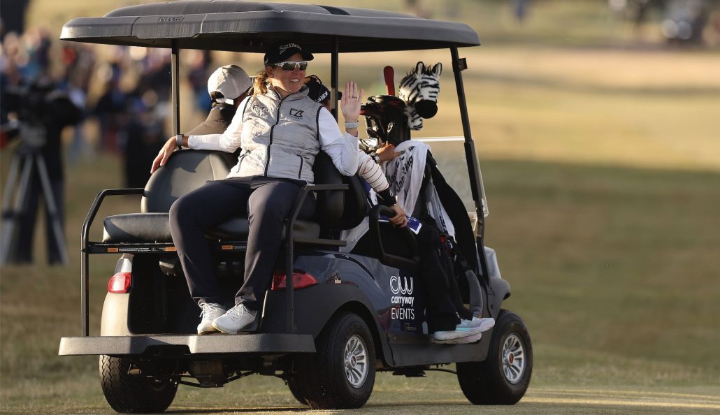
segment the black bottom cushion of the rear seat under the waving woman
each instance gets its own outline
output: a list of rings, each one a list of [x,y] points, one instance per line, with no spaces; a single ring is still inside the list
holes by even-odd
[[[167,213],[138,213],[107,216],[103,222],[104,243],[172,242],[170,219]],[[210,229],[206,237],[220,240],[247,240],[248,218],[235,217]],[[315,222],[296,221],[295,237],[318,238],[320,225]],[[282,239],[285,237],[283,228]]]

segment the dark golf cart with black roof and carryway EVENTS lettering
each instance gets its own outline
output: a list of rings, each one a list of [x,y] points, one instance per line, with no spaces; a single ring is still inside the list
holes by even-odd
[[[364,405],[378,371],[409,377],[422,377],[428,370],[451,371],[475,404],[513,404],[523,397],[531,378],[532,346],[520,317],[501,309],[510,286],[494,271],[494,257],[486,255],[483,242],[487,209],[462,83],[467,63],[458,53],[459,47],[480,42],[467,25],[346,7],[181,0],[73,19],[60,37],[171,49],[174,133],[180,132],[181,49],[261,53],[269,43],[291,37],[312,53],[330,54],[333,114],[340,53],[449,49],[475,226],[437,166],[428,165],[426,171],[454,224],[457,245],[467,260],[466,275],[480,283],[474,301],[480,301],[482,316],[496,321],[494,329],[473,344],[431,342],[423,292],[413,282],[419,256],[413,236],[397,229],[403,243],[385,240],[379,216],[387,211],[376,207],[369,219],[373,249],[338,252],[346,242],[333,235],[361,222],[366,196],[358,177],[341,175],[320,152],[313,167],[315,184],[302,189],[284,228],[284,250],[266,293],[260,329],[197,335],[199,309],[178,263],[168,209],[205,181],[225,178],[232,163],[216,152],[181,150],[153,173],[145,188],[101,191],[83,225],[81,335],[63,337],[59,354],[99,355],[102,389],[113,409],[164,411],[179,385],[221,387],[251,374],[286,380],[298,401],[318,409]],[[318,199],[315,216],[297,219],[302,201],[312,193]],[[140,212],[108,216],[103,240],[89,240],[104,199],[130,194],[141,196]],[[242,284],[247,233],[247,218],[237,217],[206,234],[217,278],[230,293]],[[120,258],[108,283],[100,335],[90,336],[89,255],[108,253]],[[464,287],[463,295],[469,298]],[[456,372],[442,368],[453,363]]]

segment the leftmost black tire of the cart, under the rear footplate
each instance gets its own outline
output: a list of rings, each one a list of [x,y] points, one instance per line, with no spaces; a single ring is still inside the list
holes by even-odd
[[[168,409],[175,398],[177,383],[128,375],[131,364],[130,357],[100,356],[100,385],[107,403],[122,414],[148,414]]]

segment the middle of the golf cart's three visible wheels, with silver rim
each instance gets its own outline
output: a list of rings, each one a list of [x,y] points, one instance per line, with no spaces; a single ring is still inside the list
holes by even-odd
[[[300,396],[315,409],[363,406],[375,383],[375,345],[365,321],[357,314],[337,314],[315,339],[315,348],[315,354],[296,359]],[[348,357],[346,348],[354,351]]]

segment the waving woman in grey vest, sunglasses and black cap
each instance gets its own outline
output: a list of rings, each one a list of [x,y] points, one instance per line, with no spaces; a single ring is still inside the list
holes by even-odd
[[[342,111],[350,127],[343,134],[333,116],[307,97],[303,88],[312,54],[291,40],[266,50],[265,68],[258,73],[253,95],[240,103],[230,127],[222,134],[172,137],[153,163],[166,163],[179,146],[234,152],[238,164],[228,178],[210,181],[175,201],[170,229],[190,294],[202,309],[198,334],[237,334],[258,328],[272,270],[282,243],[284,219],[302,186],[313,183],[312,163],[323,150],[338,170],[354,175],[358,168],[357,124],[362,91],[348,82]],[[315,200],[305,199],[300,219],[312,216]],[[247,214],[249,221],[245,280],[226,309],[225,296],[212,269],[208,229],[226,219]]]

